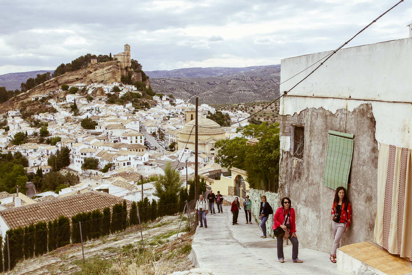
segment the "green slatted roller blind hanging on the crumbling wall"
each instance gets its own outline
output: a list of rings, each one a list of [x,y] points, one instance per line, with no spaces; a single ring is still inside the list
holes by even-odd
[[[329,131],[323,185],[348,188],[353,155],[353,134]]]

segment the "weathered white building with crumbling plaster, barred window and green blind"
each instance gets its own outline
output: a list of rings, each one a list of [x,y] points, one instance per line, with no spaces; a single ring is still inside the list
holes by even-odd
[[[288,91],[312,69],[289,78],[330,53],[283,59],[280,91]],[[330,209],[337,186],[348,188],[353,207],[351,229],[341,245],[368,240],[382,245],[382,231],[388,230],[389,235],[389,228],[382,228],[383,207],[392,206],[383,202],[391,189],[385,186],[387,179],[395,184],[393,198],[388,197],[393,199],[393,207],[410,209],[410,199],[405,205],[398,204],[398,193],[403,191],[410,198],[411,190],[405,186],[402,190],[401,168],[391,179],[388,176],[387,153],[391,146],[396,148],[396,156],[405,151],[410,158],[411,64],[412,38],[341,49],[281,98],[278,196],[290,197],[296,210],[300,246],[322,251],[332,248]],[[410,166],[405,167],[410,171]],[[392,220],[398,219],[397,213],[393,212]],[[410,229],[409,224],[402,230]],[[396,235],[391,230],[392,236]],[[399,254],[405,256],[411,240],[402,241]],[[396,246],[396,242],[390,243]],[[391,245],[386,249],[395,251]]]

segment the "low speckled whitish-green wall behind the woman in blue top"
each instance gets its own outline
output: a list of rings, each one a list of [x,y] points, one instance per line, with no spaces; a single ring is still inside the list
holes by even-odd
[[[273,212],[280,206],[280,201],[277,193],[267,192],[264,190],[257,190],[250,188],[249,190],[249,198],[252,202],[252,214],[255,219],[260,224],[259,220],[259,210],[260,210],[260,202],[262,201],[261,197],[265,195],[267,201],[269,202],[270,206],[272,206]],[[266,222],[266,231],[268,235],[272,235],[272,226],[273,226],[273,214],[269,215],[269,218]]]

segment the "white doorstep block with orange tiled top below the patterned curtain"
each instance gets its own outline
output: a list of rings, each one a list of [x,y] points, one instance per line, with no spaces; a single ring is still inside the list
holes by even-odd
[[[337,250],[337,270],[348,274],[412,275],[412,264],[372,242],[358,242]],[[366,273],[366,274],[367,274]]]

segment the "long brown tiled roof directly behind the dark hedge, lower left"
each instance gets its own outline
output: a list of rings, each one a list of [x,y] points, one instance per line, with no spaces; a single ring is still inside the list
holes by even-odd
[[[114,195],[101,192],[88,192],[80,195],[64,197],[48,202],[39,202],[27,206],[16,207],[0,211],[0,216],[9,228],[28,226],[30,223],[38,221],[50,221],[60,215],[70,219],[80,212],[89,212],[94,209],[103,211],[105,207],[112,207],[114,204],[123,200]],[[126,200],[128,208],[131,201]]]

